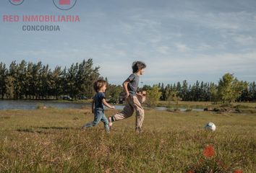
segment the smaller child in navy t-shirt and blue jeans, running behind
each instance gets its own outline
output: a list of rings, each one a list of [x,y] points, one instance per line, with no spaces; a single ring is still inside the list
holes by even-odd
[[[98,81],[95,81],[93,88],[95,89],[95,92],[97,92],[93,98],[92,102],[92,112],[94,113],[94,120],[90,123],[87,123],[82,126],[82,128],[90,128],[95,125],[98,125],[100,121],[104,123],[104,127],[106,132],[109,132],[109,126],[108,126],[108,119],[106,115],[104,114],[104,106],[109,107],[111,109],[114,109],[114,106],[109,105],[106,102],[105,94],[106,91],[106,84],[107,82],[100,79]]]

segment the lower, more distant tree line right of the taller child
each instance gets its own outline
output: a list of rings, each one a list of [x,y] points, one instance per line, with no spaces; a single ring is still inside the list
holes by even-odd
[[[176,84],[162,83],[154,85],[161,93],[160,100],[183,100],[204,102],[256,102],[255,81],[239,81],[234,74],[224,74],[218,81],[213,82],[196,81],[188,84],[186,80]],[[154,87],[153,86],[153,87]],[[144,90],[153,90],[152,86],[143,86]]]

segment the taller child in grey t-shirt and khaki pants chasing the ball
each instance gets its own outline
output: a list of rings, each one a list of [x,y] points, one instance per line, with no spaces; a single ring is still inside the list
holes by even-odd
[[[142,98],[142,94],[137,92],[139,85],[140,75],[144,73],[146,64],[141,61],[135,61],[132,63],[132,74],[124,81],[123,87],[126,93],[126,105],[124,110],[108,117],[109,127],[111,128],[114,121],[124,120],[127,117],[131,117],[133,112],[136,112],[135,131],[141,132],[142,123],[144,120],[144,110],[138,97]]]

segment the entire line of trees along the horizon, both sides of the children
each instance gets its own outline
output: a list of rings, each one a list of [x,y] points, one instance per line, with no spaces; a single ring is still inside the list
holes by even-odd
[[[72,99],[92,98],[93,82],[103,77],[99,74],[99,66],[93,66],[93,59],[63,69],[56,66],[54,70],[48,64],[12,61],[7,68],[0,63],[0,98],[1,99],[59,99],[67,95]],[[106,79],[107,80],[107,79]],[[148,91],[148,99],[174,101],[205,101],[205,102],[256,102],[255,81],[239,81],[233,74],[224,74],[218,81],[196,81],[188,84],[186,80],[176,84],[159,83],[144,85]],[[108,84],[107,99],[116,102],[123,91],[122,86]]]

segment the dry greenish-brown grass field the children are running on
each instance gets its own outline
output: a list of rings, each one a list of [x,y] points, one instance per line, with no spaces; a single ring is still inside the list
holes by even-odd
[[[0,172],[256,172],[255,113],[146,110],[139,135],[135,115],[109,134],[103,123],[80,130],[91,120],[90,110],[1,110]]]

